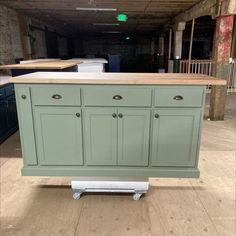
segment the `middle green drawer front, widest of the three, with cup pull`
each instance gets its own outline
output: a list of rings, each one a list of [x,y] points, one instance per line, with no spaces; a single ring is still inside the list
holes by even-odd
[[[85,88],[85,106],[151,106],[151,89]]]

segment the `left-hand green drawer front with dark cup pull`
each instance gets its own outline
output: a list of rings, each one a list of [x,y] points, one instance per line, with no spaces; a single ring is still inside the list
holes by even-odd
[[[32,88],[34,105],[80,106],[80,88],[66,86]]]

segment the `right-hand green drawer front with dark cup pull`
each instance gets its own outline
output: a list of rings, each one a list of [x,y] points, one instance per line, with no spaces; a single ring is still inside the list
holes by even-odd
[[[156,107],[201,107],[203,88],[157,88]]]

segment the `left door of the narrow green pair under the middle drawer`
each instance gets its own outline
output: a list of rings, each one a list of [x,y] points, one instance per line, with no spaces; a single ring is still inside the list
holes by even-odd
[[[117,164],[116,113],[116,109],[110,108],[85,110],[85,157],[87,165]]]

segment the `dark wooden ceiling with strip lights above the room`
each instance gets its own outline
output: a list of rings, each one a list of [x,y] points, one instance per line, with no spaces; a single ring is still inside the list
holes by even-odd
[[[0,0],[0,4],[18,12],[77,33],[155,31],[198,2],[199,0]],[[128,16],[126,22],[117,21],[120,13]]]

